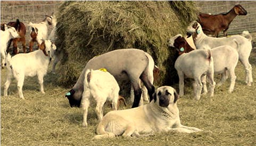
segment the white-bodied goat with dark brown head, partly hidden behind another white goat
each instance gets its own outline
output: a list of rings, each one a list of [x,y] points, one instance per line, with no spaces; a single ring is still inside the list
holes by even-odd
[[[189,53],[190,51],[194,50],[191,46],[189,46],[185,38],[181,35],[179,35],[179,37],[175,38],[174,41],[171,42],[174,43],[170,44],[170,46],[177,48],[179,54]],[[181,48],[184,48],[184,50],[181,51]],[[208,47],[205,49],[210,48]],[[214,61],[214,74],[221,74],[221,81],[217,83],[217,86],[220,86],[222,83],[226,81],[226,71],[228,71],[230,75],[230,87],[228,91],[230,93],[233,92],[236,80],[235,67],[238,62],[237,51],[230,46],[219,46],[216,48],[212,48],[211,53]],[[203,86],[203,88],[204,92],[207,92],[207,88],[205,88],[205,86]]]

